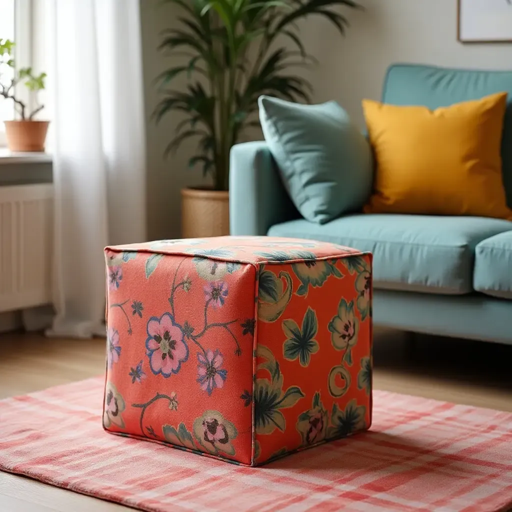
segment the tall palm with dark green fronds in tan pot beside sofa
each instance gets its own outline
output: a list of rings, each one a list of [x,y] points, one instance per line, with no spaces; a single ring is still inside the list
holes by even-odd
[[[201,164],[213,186],[182,190],[182,236],[229,232],[229,152],[245,129],[259,125],[262,94],[308,102],[311,86],[290,73],[293,66],[314,63],[302,44],[296,22],[319,15],[343,34],[347,19],[335,8],[358,7],[352,0],[167,0],[183,15],[180,27],[163,33],[161,50],[186,56],[179,66],[157,78],[162,99],[156,122],[171,112],[184,114],[165,154],[190,137],[198,153],[189,166]],[[187,75],[186,90],[172,82]]]

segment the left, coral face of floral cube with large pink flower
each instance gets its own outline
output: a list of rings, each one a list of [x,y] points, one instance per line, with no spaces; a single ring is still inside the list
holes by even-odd
[[[105,430],[250,464],[254,266],[105,254]]]

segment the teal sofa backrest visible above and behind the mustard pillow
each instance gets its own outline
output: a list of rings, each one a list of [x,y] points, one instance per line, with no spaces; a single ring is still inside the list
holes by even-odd
[[[502,91],[508,93],[501,144],[503,184],[507,205],[512,207],[512,71],[394,65],[388,69],[382,101],[393,105],[424,105],[434,110]]]

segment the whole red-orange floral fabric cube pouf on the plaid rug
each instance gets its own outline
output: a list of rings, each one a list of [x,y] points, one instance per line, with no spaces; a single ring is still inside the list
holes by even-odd
[[[371,254],[219,237],[105,258],[105,430],[259,465],[369,428]]]

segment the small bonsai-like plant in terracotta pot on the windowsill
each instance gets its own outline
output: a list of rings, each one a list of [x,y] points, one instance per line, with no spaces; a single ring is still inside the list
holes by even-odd
[[[13,101],[14,109],[20,117],[16,121],[4,121],[7,145],[11,151],[45,151],[49,121],[34,120],[44,105],[36,103],[29,110],[27,104],[16,95],[15,87],[24,84],[35,95],[45,88],[46,73],[35,75],[32,68],[16,70],[12,58],[13,48],[13,41],[0,39],[0,98]]]

